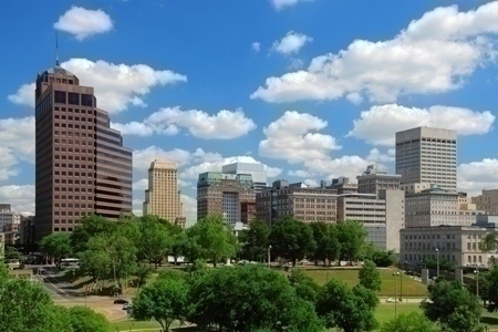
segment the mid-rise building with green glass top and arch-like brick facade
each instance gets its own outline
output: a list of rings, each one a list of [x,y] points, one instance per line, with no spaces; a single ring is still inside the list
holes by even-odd
[[[255,203],[252,177],[248,174],[224,174],[207,172],[199,174],[197,180],[197,219],[207,215],[222,215],[225,220],[235,226],[236,222],[248,224],[252,216],[246,208],[242,219],[242,206]]]

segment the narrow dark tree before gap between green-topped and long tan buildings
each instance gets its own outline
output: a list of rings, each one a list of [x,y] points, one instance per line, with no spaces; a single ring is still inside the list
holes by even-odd
[[[270,228],[264,221],[252,221],[249,229],[243,232],[243,236],[239,236],[245,257],[250,260],[264,260],[268,253],[269,236]]]

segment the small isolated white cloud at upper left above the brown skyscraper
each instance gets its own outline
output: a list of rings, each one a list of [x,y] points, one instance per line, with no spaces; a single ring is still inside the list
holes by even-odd
[[[72,7],[59,18],[53,28],[74,34],[77,40],[83,40],[92,34],[110,31],[113,29],[113,21],[102,9],[89,10]]]

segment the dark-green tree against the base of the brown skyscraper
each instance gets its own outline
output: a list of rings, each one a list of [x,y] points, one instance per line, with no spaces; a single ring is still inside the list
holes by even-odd
[[[91,238],[103,234],[111,234],[116,222],[97,215],[85,216],[80,219],[80,224],[71,234],[71,247],[74,253],[84,252],[89,249],[87,243]]]

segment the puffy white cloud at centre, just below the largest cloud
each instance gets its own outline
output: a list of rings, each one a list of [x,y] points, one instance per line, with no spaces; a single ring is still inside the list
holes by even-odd
[[[335,138],[311,133],[325,127],[326,121],[308,113],[287,111],[263,129],[267,138],[259,143],[259,154],[290,163],[328,158],[329,152],[341,148]]]

